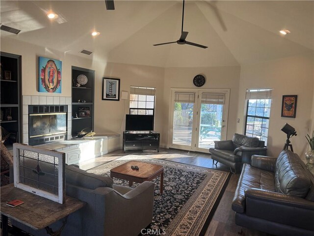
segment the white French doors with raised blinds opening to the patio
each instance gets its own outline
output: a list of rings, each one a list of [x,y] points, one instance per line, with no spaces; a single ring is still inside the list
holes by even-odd
[[[171,89],[169,147],[208,152],[226,140],[230,89]]]

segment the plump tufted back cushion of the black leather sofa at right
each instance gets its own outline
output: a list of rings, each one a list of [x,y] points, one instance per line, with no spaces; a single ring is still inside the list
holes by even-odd
[[[305,198],[311,187],[311,180],[302,165],[300,157],[290,150],[279,154],[275,166],[276,192]]]

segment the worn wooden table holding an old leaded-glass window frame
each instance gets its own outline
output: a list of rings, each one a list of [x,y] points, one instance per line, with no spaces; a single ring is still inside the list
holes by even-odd
[[[22,200],[24,204],[17,207],[6,205],[7,202],[15,199]],[[84,205],[84,202],[69,196],[66,196],[65,204],[59,204],[16,188],[13,184],[5,185],[1,187],[0,203],[2,235],[8,235],[8,218],[10,218],[34,230],[46,229],[47,234],[58,236],[66,224],[68,215]],[[63,226],[57,232],[53,232],[49,225],[62,218],[65,218]]]

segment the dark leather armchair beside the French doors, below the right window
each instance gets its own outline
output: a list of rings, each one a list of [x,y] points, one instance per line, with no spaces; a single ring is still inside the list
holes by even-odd
[[[231,168],[235,174],[241,172],[243,163],[251,163],[252,155],[266,155],[264,141],[258,138],[235,134],[232,140],[215,141],[215,147],[209,148],[212,163],[220,162]]]

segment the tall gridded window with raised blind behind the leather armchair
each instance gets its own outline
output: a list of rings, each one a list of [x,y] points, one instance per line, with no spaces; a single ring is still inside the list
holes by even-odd
[[[245,135],[257,137],[267,145],[272,89],[248,89]]]

